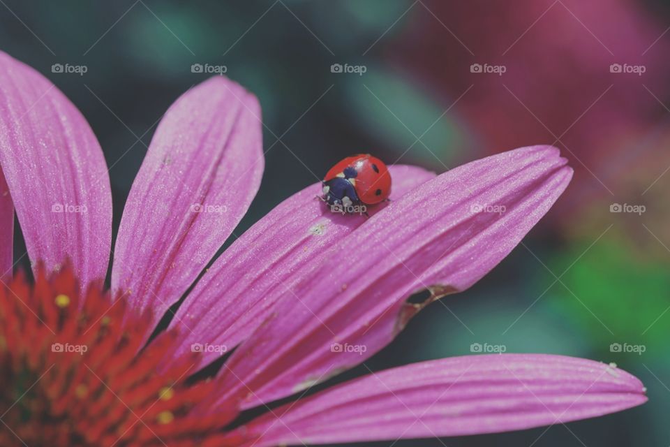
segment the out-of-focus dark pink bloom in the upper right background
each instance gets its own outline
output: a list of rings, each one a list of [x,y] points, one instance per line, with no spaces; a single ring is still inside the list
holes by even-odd
[[[618,193],[618,174],[650,153],[630,149],[667,112],[657,98],[670,91],[670,45],[667,24],[648,7],[625,0],[425,6],[412,10],[388,57],[441,92],[445,108],[473,85],[454,109],[476,135],[466,152],[528,142],[566,149],[576,169],[568,206]],[[471,73],[471,64],[506,71]],[[612,64],[643,66],[643,73],[612,73]]]

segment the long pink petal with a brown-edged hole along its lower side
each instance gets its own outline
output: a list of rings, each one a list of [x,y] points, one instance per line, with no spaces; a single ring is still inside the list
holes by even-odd
[[[392,202],[283,293],[222,369],[222,399],[239,398],[243,408],[269,402],[382,349],[420,309],[405,304],[412,293],[462,291],[507,256],[567,186],[565,163],[553,147],[516,149],[450,170]],[[483,205],[506,211],[481,212]],[[332,352],[335,343],[365,352]]]

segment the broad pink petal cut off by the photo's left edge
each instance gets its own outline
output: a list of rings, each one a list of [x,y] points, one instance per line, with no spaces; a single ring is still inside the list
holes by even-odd
[[[1,52],[0,165],[32,263],[70,258],[82,284],[104,279],[112,193],[98,140],[59,89]]]

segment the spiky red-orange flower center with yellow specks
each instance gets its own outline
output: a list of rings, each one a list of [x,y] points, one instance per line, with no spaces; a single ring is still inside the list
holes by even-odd
[[[172,358],[177,332],[143,348],[149,314],[38,270],[0,286],[0,446],[230,445],[237,411],[207,404],[216,380],[188,381],[199,354]]]

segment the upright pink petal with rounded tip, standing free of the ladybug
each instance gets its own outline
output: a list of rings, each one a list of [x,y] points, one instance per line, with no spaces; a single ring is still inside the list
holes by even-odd
[[[255,96],[223,76],[183,94],[158,124],[128,195],[112,288],[160,318],[237,226],[263,165]]]

